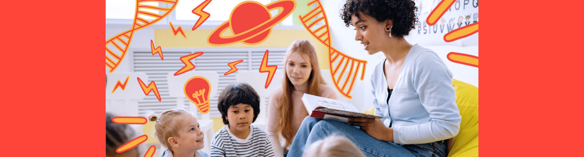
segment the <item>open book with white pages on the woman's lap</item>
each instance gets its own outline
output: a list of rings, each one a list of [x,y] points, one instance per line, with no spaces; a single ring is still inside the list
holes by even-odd
[[[308,111],[308,115],[321,119],[332,119],[347,123],[349,122],[349,118],[356,117],[370,119],[387,118],[359,112],[359,109],[350,102],[338,101],[310,94],[304,94],[302,96],[302,102],[304,102],[304,107]]]

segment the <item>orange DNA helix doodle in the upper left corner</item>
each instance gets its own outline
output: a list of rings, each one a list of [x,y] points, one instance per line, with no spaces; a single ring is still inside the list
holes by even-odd
[[[147,5],[146,3],[148,2],[158,2],[160,5],[159,6]],[[178,0],[136,1],[136,10],[134,12],[134,22],[132,24],[132,27],[129,30],[126,30],[106,40],[106,67],[110,69],[109,70],[110,73],[114,72],[114,70],[116,70],[117,67],[120,66],[121,61],[126,56],[128,48],[132,41],[132,37],[134,35],[134,31],[151,26],[152,24],[157,23],[160,20],[164,19],[164,17],[168,16],[172,12],[172,10],[175,9],[176,3],[178,3]],[[170,6],[170,8],[165,8],[163,6]],[[160,12],[153,13],[145,11],[144,9],[158,10],[164,13],[162,14],[159,14]],[[147,20],[150,18],[145,19],[142,17],[151,17],[154,19]]]

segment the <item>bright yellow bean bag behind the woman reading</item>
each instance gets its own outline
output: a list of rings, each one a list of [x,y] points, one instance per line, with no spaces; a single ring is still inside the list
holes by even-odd
[[[456,104],[463,117],[458,135],[449,139],[448,156],[478,156],[478,87],[452,79]],[[375,115],[375,108],[365,111]]]

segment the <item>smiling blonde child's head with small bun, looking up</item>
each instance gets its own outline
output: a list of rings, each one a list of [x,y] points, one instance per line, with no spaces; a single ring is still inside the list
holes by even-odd
[[[151,111],[150,111],[151,112]],[[171,109],[157,116],[151,112],[148,120],[155,121],[154,136],[171,151],[196,151],[204,147],[203,131],[192,112],[186,109]],[[193,150],[194,149],[194,150]]]

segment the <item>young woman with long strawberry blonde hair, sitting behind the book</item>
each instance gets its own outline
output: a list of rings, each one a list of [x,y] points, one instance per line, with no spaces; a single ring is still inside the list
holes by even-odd
[[[304,117],[308,116],[301,100],[304,93],[337,99],[335,90],[321,76],[317,52],[308,40],[292,42],[284,65],[282,87],[272,92],[267,107],[267,133],[276,156],[287,152]]]

